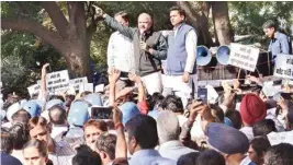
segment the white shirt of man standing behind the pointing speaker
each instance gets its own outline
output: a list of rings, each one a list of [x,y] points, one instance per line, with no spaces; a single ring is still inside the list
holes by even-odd
[[[109,39],[108,67],[124,72],[135,70],[133,43],[120,32],[113,33]]]

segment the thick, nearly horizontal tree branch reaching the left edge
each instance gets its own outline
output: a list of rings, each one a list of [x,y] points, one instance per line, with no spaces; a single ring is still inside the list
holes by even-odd
[[[2,17],[1,28],[33,33],[47,44],[53,45],[60,52],[64,51],[65,42],[59,37],[59,35],[56,32],[45,28],[38,22],[23,19]]]

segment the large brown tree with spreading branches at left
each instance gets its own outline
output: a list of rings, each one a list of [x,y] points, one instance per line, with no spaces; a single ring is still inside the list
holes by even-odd
[[[21,9],[20,13],[30,11],[25,5],[22,5],[23,3],[15,3]],[[93,16],[94,10],[92,10],[91,4],[92,2],[67,2],[68,19],[66,19],[65,13],[56,2],[41,2],[40,5],[49,15],[56,31],[48,30],[40,22],[23,15],[2,16],[1,28],[27,32],[38,36],[65,57],[69,73],[74,76],[87,75],[91,81],[90,42],[98,22]]]

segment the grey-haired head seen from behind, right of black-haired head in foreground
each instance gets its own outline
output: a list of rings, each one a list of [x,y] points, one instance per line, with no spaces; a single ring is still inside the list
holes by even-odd
[[[173,111],[164,110],[157,118],[157,130],[160,143],[179,140],[180,126]]]

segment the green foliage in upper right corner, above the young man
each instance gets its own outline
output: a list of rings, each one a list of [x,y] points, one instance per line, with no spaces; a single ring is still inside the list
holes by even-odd
[[[236,35],[263,35],[267,20],[285,19],[293,24],[293,2],[286,1],[233,1],[229,2],[230,22]]]

